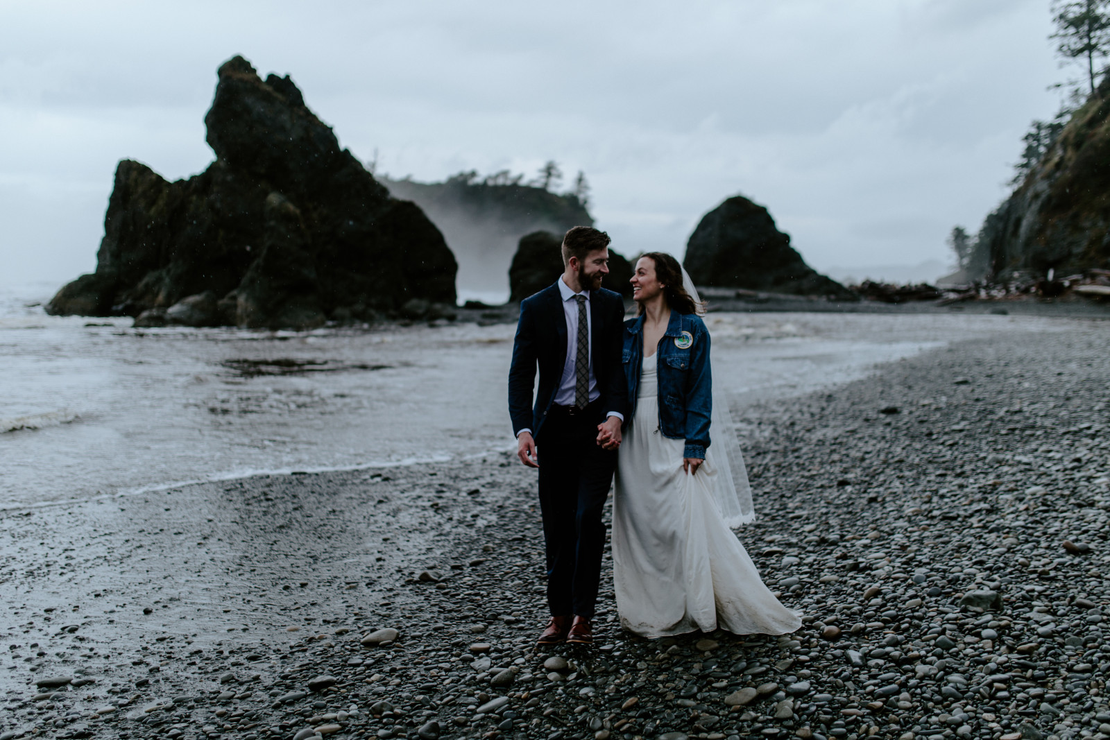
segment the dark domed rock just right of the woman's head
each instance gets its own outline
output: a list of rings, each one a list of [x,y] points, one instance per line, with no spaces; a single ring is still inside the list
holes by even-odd
[[[740,195],[702,217],[686,245],[683,266],[698,286],[858,300],[807,265],[767,209]]]

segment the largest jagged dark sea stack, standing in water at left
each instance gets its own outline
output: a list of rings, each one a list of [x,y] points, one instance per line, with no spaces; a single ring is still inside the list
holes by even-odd
[[[454,304],[443,235],[340,149],[289,75],[263,82],[229,60],[204,123],[216,159],[199,175],[167,182],[120,162],[97,271],[49,313],[311,327],[413,300]]]

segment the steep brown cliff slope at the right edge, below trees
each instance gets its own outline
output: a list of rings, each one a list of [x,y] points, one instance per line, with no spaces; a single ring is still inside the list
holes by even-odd
[[[972,277],[1110,267],[1110,75],[979,231]]]

